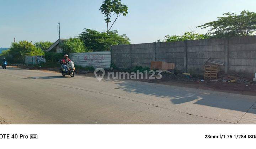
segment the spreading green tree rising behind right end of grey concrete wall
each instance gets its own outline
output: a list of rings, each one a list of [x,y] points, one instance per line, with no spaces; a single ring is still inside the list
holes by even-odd
[[[242,11],[240,15],[224,13],[217,21],[205,23],[201,29],[210,28],[208,34],[212,37],[236,37],[254,35],[256,31],[256,13]]]

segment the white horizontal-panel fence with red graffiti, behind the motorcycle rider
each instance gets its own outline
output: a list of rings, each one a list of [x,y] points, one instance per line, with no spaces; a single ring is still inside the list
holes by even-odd
[[[75,65],[94,68],[110,68],[111,53],[106,52],[89,52],[89,53],[71,53],[69,58],[75,62]]]

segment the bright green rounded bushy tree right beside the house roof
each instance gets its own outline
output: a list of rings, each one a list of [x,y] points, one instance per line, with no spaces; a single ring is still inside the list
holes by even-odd
[[[65,54],[88,52],[84,42],[80,38],[70,38],[65,40],[61,46]]]

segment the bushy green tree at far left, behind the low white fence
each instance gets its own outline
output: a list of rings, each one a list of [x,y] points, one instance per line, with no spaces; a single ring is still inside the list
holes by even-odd
[[[28,42],[27,40],[20,41],[18,43],[12,43],[9,49],[9,54],[12,55],[15,59],[23,60],[26,55],[28,56],[42,56],[44,52],[42,49],[37,48],[32,44],[32,42]]]

